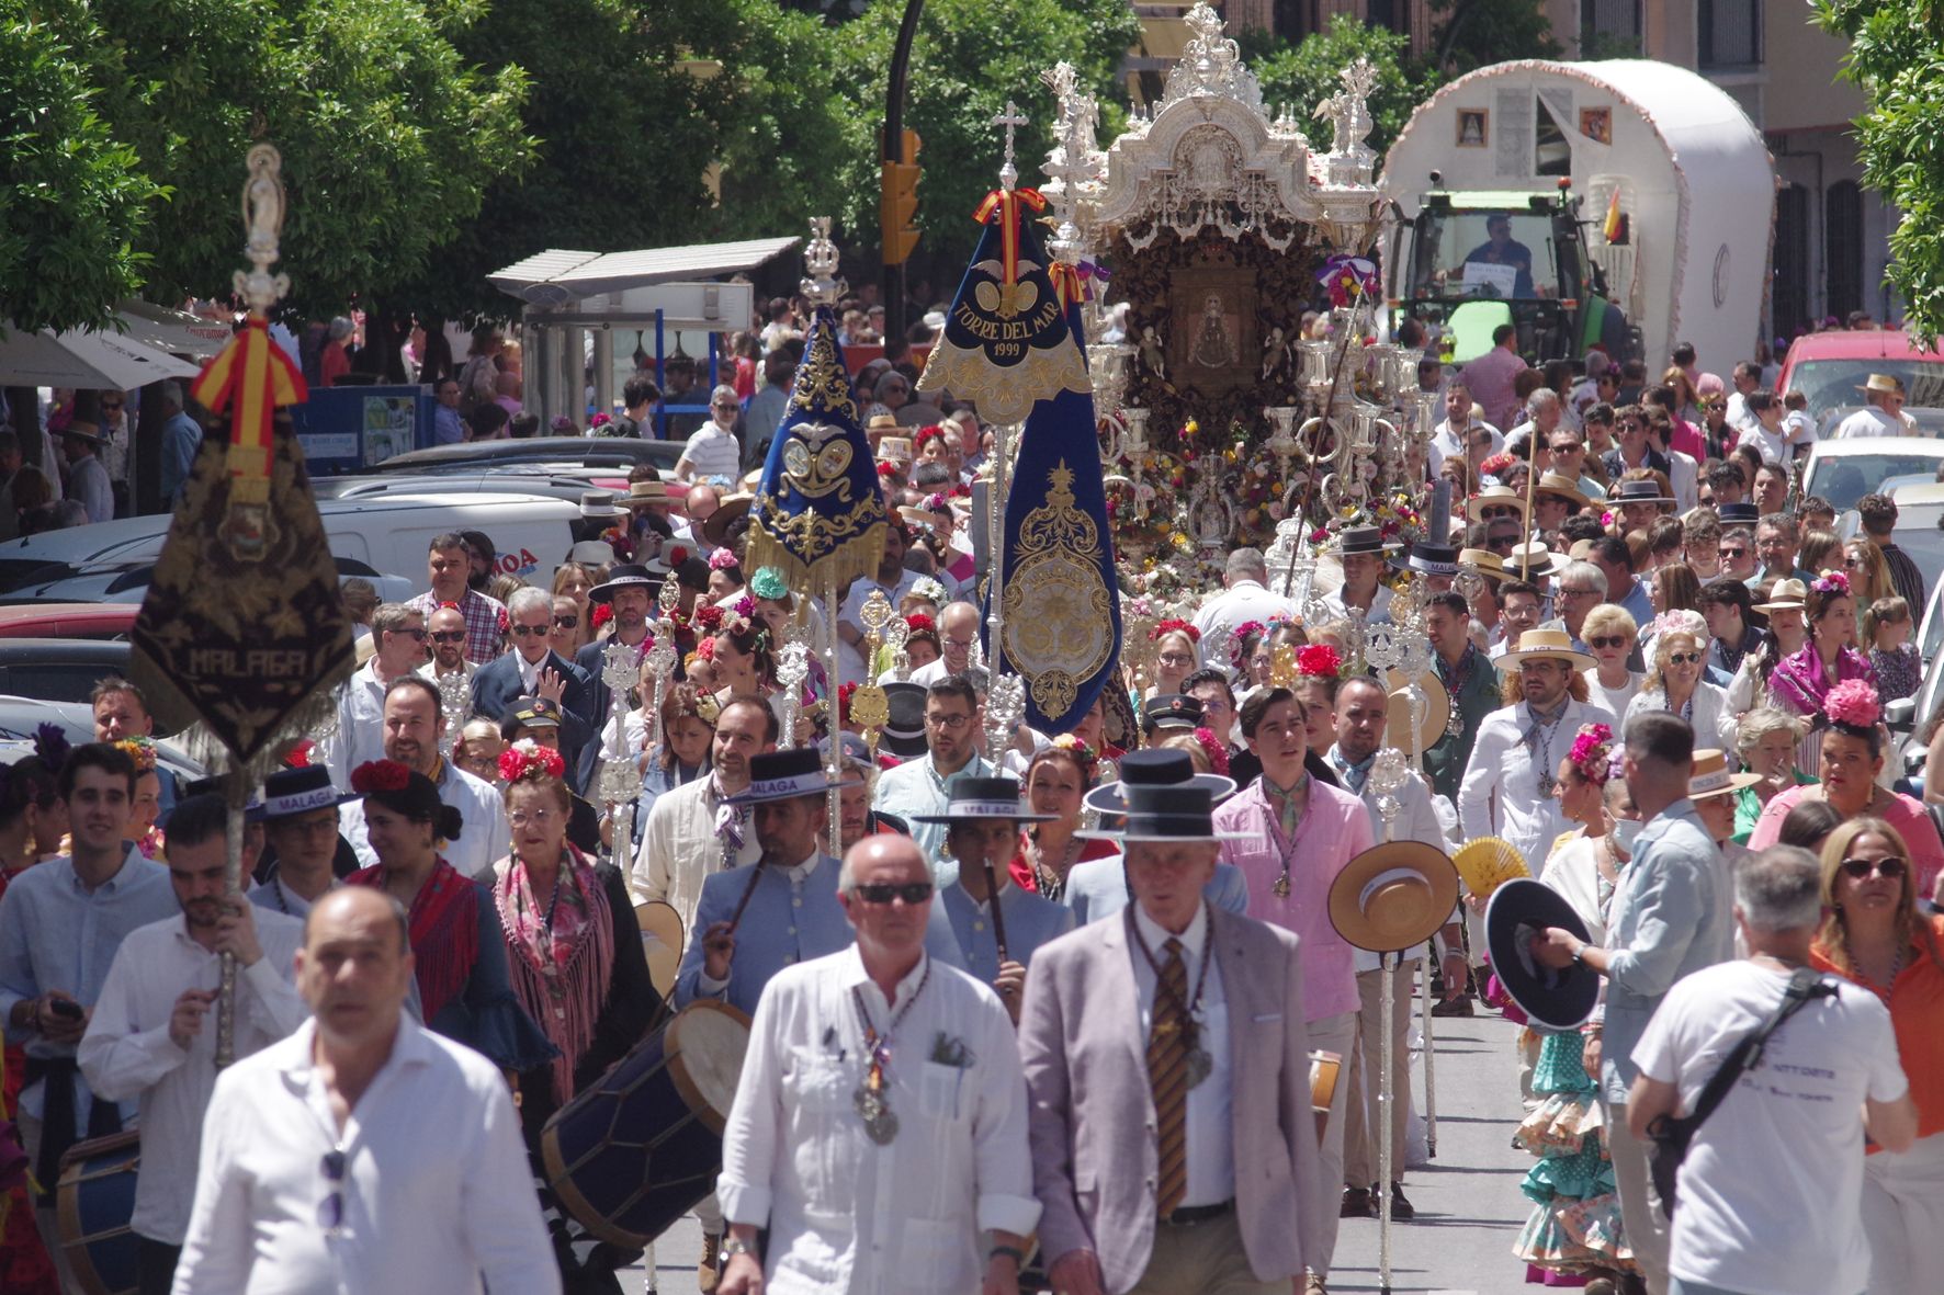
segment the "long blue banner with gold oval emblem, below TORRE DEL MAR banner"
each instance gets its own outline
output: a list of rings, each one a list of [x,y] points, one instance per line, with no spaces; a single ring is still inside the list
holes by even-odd
[[[1081,294],[1061,272],[1067,340],[1081,348]],[[1106,517],[1093,385],[1058,391],[1026,414],[1005,498],[1001,556],[1005,665],[1026,682],[1026,723],[1065,733],[1114,681],[1120,661],[1120,595],[1114,531]]]

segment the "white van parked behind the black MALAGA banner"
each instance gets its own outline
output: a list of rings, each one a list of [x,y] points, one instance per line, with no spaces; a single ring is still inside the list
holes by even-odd
[[[445,531],[482,531],[500,550],[500,568],[540,583],[573,546],[579,506],[531,494],[387,494],[375,500],[321,500],[330,552],[399,576],[424,589],[426,552]],[[169,515],[97,521],[0,544],[0,593],[45,585],[103,568],[152,566],[169,537]]]

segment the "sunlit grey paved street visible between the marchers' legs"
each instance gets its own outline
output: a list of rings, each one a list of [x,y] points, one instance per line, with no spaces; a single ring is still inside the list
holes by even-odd
[[[1398,1295],[1474,1295],[1518,1291],[1522,1266],[1510,1246],[1526,1221],[1528,1202],[1518,1180],[1532,1157],[1514,1151],[1518,1128],[1518,1066],[1512,1056],[1516,1029],[1499,1017],[1437,1023],[1439,1155],[1406,1178],[1417,1206],[1413,1223],[1392,1227],[1390,1289]],[[1411,1077],[1413,1101],[1423,1110],[1423,1066]],[[657,1246],[661,1295],[694,1295],[700,1235],[684,1219]],[[1345,1219],[1337,1239],[1332,1295],[1378,1291],[1376,1221]],[[645,1287],[645,1270],[624,1278],[634,1295]]]

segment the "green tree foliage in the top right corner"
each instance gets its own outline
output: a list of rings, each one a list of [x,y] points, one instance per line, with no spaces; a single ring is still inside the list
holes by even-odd
[[[1944,25],[1934,14],[1919,0],[1816,2],[1816,21],[1851,41],[1843,74],[1868,101],[1857,119],[1862,183],[1903,212],[1886,278],[1925,344],[1944,332]]]

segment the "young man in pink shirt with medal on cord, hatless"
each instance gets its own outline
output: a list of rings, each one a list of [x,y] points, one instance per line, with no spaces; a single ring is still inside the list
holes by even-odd
[[[1357,955],[1330,926],[1330,883],[1343,865],[1371,848],[1371,815],[1363,801],[1304,770],[1308,716],[1289,688],[1260,688],[1242,704],[1242,739],[1262,760],[1262,778],[1215,811],[1219,832],[1244,832],[1223,842],[1221,861],[1248,881],[1248,916],[1293,931],[1302,955],[1302,1015],[1310,1048],[1349,1056],[1357,1032]],[[1330,1102],[1322,1145],[1324,1182],[1343,1182],[1343,1102],[1339,1083]],[[1326,1211],[1314,1274],[1304,1291],[1322,1291],[1336,1248],[1337,1215]]]

